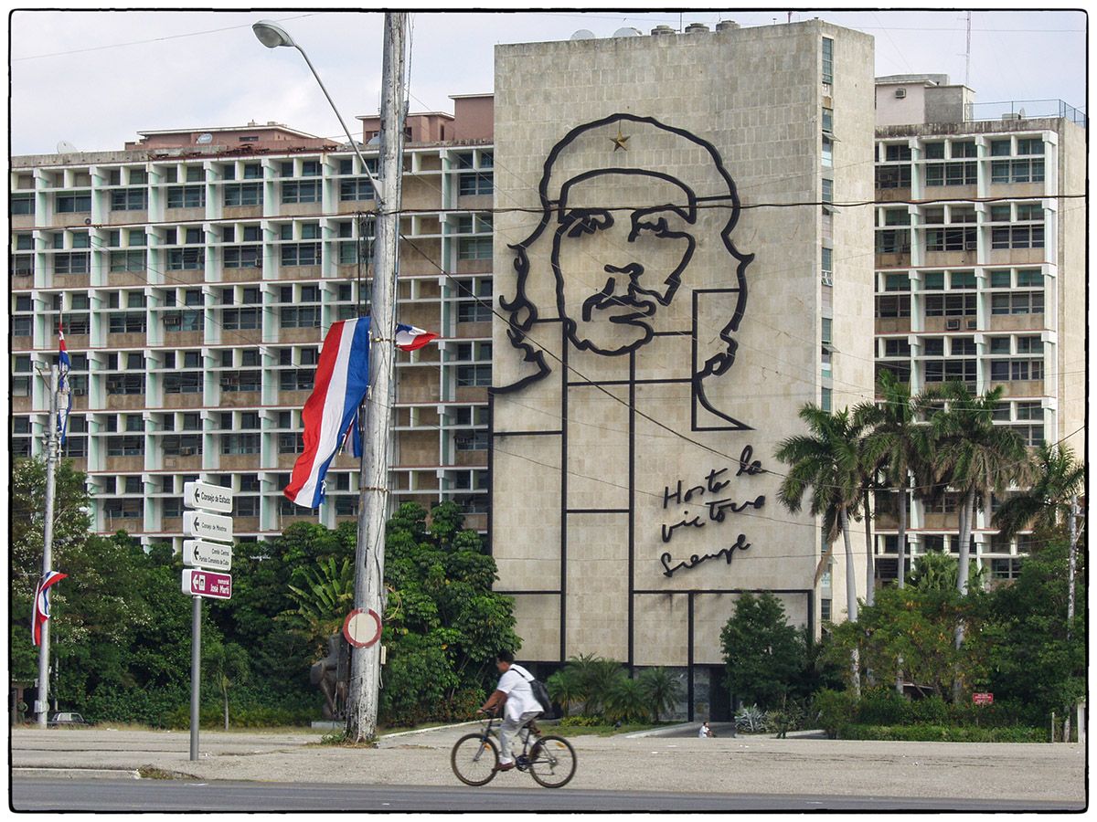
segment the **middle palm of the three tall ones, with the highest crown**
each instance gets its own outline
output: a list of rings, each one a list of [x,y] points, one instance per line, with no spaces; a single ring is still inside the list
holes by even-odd
[[[906,584],[906,524],[907,490],[911,476],[920,483],[925,467],[931,457],[931,436],[927,425],[918,425],[919,411],[924,400],[911,397],[911,387],[900,383],[886,368],[881,369],[879,379],[879,406],[870,406],[861,416],[864,425],[872,426],[866,437],[866,460],[884,471],[892,488],[898,489],[898,586]]]

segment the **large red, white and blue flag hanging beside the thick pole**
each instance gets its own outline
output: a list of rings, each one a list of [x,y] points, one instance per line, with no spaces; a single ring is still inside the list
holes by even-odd
[[[309,509],[324,501],[324,477],[348,430],[357,429],[358,408],[369,385],[370,318],[332,323],[320,349],[313,393],[302,412],[305,449],[283,491],[286,499]]]

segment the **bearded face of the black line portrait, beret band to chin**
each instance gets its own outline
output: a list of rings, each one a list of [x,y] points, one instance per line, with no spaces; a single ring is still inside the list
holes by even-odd
[[[622,207],[598,195],[607,183],[622,192]],[[680,229],[695,221],[692,192],[668,174],[598,171],[564,183],[552,269],[572,344],[613,356],[649,342],[654,318],[674,300],[697,248],[692,233]]]

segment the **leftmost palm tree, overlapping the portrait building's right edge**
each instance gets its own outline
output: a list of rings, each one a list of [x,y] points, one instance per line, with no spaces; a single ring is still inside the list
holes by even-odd
[[[824,411],[808,402],[800,410],[811,434],[782,441],[774,457],[791,466],[777,492],[778,499],[791,512],[800,511],[807,488],[812,489],[808,512],[823,516],[827,550],[816,570],[816,581],[834,552],[834,541],[840,533],[846,547],[846,608],[849,620],[857,621],[857,579],[853,572],[853,550],[849,544],[849,517],[856,513],[862,484],[862,463],[858,454],[860,425],[850,418],[849,409]],[[860,695],[861,676],[857,649],[852,651],[853,692]]]

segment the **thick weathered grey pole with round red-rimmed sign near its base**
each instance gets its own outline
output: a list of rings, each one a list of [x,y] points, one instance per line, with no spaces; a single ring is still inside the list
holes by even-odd
[[[362,468],[359,476],[354,607],[384,615],[385,521],[388,516],[388,448],[395,399],[396,269],[399,254],[400,173],[405,121],[406,13],[385,14],[382,60],[380,182],[373,243],[370,390],[364,406]],[[382,202],[383,201],[383,202]],[[381,688],[381,642],[351,649],[347,737],[360,742],[376,735]]]

